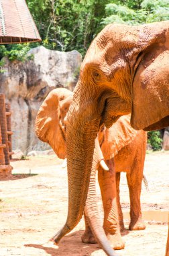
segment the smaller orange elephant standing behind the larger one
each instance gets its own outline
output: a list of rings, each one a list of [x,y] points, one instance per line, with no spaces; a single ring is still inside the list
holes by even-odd
[[[72,102],[72,92],[64,88],[52,90],[46,97],[36,118],[36,133],[38,137],[50,144],[59,158],[66,158],[66,115],[70,103]],[[124,243],[121,239],[120,229],[123,230],[123,214],[119,199],[120,172],[127,173],[127,183],[130,197],[130,230],[142,230],[145,228],[142,220],[140,205],[140,193],[142,189],[142,179],[144,170],[144,160],[146,154],[146,132],[135,131],[130,123],[130,115],[121,117],[109,129],[102,125],[99,129],[97,139],[107,166],[115,165],[116,189],[117,189],[117,209],[119,212],[119,223],[115,223],[113,201],[115,201],[116,191],[113,184],[112,173],[107,172],[106,164],[101,160],[98,163],[98,179],[101,188],[101,195],[104,207],[105,233],[107,234],[114,249],[122,249]],[[82,235],[84,243],[95,243],[95,238],[91,228],[86,222],[86,230]]]

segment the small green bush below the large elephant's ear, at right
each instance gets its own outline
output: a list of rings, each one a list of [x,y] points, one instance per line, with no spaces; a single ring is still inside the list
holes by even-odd
[[[148,143],[150,143],[153,150],[161,150],[162,149],[162,139],[160,137],[160,131],[149,131],[148,132]]]

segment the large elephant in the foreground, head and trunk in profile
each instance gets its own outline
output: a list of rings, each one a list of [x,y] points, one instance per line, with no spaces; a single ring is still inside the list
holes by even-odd
[[[140,26],[109,24],[89,46],[68,111],[68,215],[54,235],[54,243],[78,224],[88,201],[88,214],[97,216],[93,172],[99,157],[96,138],[100,126],[104,123],[109,128],[129,113],[131,126],[137,130],[169,126],[168,50],[168,21]],[[115,255],[99,220],[94,228],[107,255]]]

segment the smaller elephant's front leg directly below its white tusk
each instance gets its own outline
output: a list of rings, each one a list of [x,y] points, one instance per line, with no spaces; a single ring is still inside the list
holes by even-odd
[[[101,166],[99,166],[98,169],[98,179],[104,208],[103,228],[105,229],[105,233],[107,234],[107,238],[109,238],[111,246],[114,249],[123,249],[125,245],[119,230],[113,159],[107,160],[106,164],[109,167],[109,172],[103,170]]]

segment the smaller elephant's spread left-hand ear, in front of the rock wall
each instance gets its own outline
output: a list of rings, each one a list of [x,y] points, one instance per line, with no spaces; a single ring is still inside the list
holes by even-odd
[[[64,88],[52,90],[38,111],[36,117],[36,134],[48,143],[59,158],[66,157],[66,139],[60,127],[60,102],[72,92]]]

